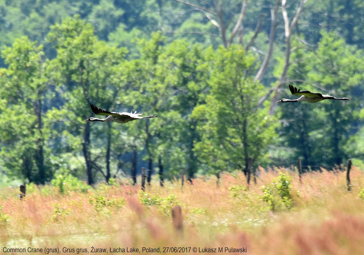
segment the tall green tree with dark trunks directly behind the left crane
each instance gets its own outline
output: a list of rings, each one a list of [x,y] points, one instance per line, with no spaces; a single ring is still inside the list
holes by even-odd
[[[118,77],[115,77],[115,69],[119,70],[118,65],[123,60],[124,49],[108,48],[105,42],[96,38],[92,26],[79,16],[54,25],[48,38],[50,42],[55,43],[57,50],[54,66],[60,72],[59,91],[66,100],[63,107],[68,109],[68,114],[72,112],[74,116],[79,116],[77,127],[83,125],[82,154],[86,163],[88,184],[92,185],[95,182],[93,169],[108,181],[111,140],[107,139],[106,142],[104,172],[98,165],[97,157],[92,159],[90,122],[83,123],[82,119],[91,116],[89,108],[91,103],[105,109],[115,107],[115,99],[122,86],[121,84],[116,86],[114,83],[119,81]],[[74,122],[70,124],[75,125]],[[111,126],[105,125],[104,128],[107,128],[106,136],[110,138]],[[79,134],[79,131],[76,134]]]

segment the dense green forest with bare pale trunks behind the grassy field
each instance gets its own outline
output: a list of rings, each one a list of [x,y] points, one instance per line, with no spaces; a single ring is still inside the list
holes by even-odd
[[[3,185],[364,169],[362,1],[0,1]],[[351,101],[277,104],[288,84]],[[157,118],[83,122],[89,104]],[[249,160],[250,159],[250,160]]]

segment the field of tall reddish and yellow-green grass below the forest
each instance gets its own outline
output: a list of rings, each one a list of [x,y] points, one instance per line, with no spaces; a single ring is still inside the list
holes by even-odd
[[[364,174],[352,167],[351,192],[345,175],[306,173],[301,184],[276,169],[263,171],[249,189],[237,173],[222,174],[219,186],[214,177],[183,189],[178,181],[163,188],[155,181],[145,193],[122,182],[64,194],[28,187],[22,201],[18,188],[1,189],[1,253],[363,254]],[[172,226],[176,204],[183,233]]]

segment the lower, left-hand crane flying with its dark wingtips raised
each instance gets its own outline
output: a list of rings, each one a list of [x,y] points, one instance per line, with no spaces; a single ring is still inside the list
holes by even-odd
[[[94,112],[95,114],[108,115],[108,116],[106,118],[104,118],[104,119],[98,119],[98,118],[91,117],[91,118],[88,118],[87,120],[84,120],[84,121],[103,121],[103,122],[105,122],[105,121],[115,121],[115,122],[118,122],[118,123],[126,123],[126,122],[129,122],[129,121],[138,120],[138,119],[157,117],[157,115],[151,115],[151,116],[148,116],[148,117],[140,117],[139,115],[142,115],[144,113],[137,113],[137,111],[132,113],[133,110],[131,110],[130,113],[107,112],[105,110],[97,108],[93,104],[90,104],[90,107],[91,107],[92,112]]]

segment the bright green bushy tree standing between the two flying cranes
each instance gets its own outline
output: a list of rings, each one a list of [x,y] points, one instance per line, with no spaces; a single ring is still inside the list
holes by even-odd
[[[273,119],[266,109],[256,108],[264,92],[252,79],[254,57],[237,45],[209,51],[210,92],[206,104],[196,106],[192,113],[201,134],[194,150],[214,171],[248,173],[249,158],[256,165],[264,164],[266,146],[274,137]]]

